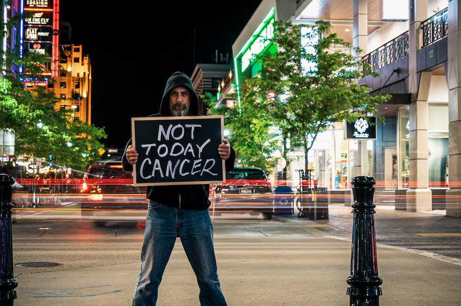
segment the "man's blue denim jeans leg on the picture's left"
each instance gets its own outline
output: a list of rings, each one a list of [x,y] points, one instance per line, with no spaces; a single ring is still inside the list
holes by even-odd
[[[158,286],[177,238],[175,209],[150,202],[141,250],[141,271],[132,306],[155,306]]]

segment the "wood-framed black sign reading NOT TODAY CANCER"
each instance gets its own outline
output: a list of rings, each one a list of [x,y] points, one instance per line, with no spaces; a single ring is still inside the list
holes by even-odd
[[[224,183],[223,116],[131,118],[134,186]]]

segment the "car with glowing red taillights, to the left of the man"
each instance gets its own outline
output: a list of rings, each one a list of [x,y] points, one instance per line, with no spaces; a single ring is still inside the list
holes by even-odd
[[[133,186],[133,174],[122,169],[121,158],[88,167],[80,189],[81,218],[98,225],[107,221],[145,221],[146,188]]]

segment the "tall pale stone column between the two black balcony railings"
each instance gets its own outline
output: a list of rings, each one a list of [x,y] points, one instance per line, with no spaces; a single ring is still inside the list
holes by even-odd
[[[428,127],[429,105],[427,98],[432,72],[417,72],[416,51],[420,49],[420,25],[427,19],[427,0],[410,0],[409,21],[409,91],[410,138],[409,170],[410,189],[407,190],[407,211],[426,212],[432,210],[432,192],[429,189]]]

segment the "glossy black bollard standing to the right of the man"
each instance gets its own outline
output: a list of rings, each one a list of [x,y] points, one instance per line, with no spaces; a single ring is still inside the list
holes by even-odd
[[[357,176],[351,181],[354,204],[352,229],[351,276],[347,278],[350,287],[350,306],[379,306],[379,287],[383,280],[378,276],[376,256],[375,219],[373,204],[376,181],[371,176]]]

